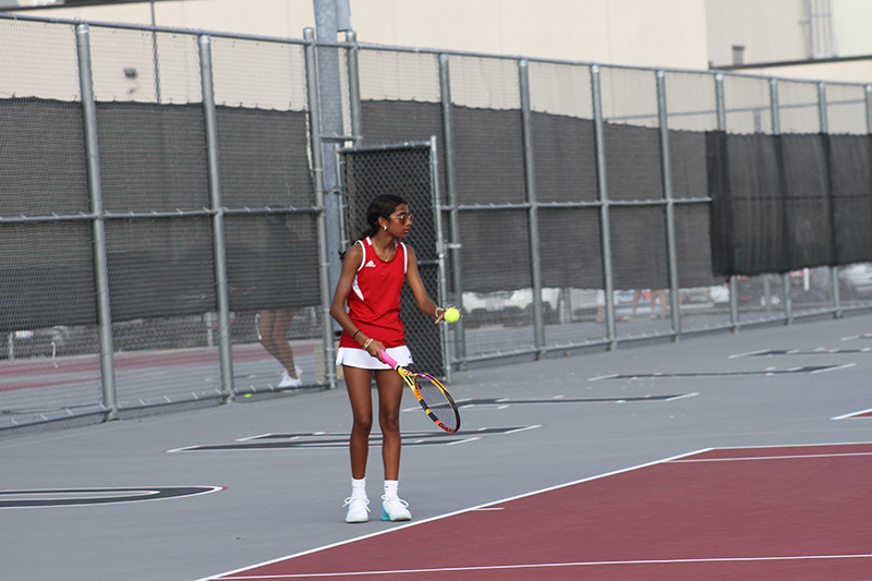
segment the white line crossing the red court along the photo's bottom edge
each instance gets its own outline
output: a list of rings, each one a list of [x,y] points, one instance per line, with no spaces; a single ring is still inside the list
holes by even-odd
[[[335,573],[299,573],[299,574],[264,574],[233,577],[232,579],[259,580],[259,579],[312,579],[329,577],[367,577],[392,576],[414,573],[441,573],[452,571],[505,571],[513,569],[550,569],[555,567],[592,567],[603,565],[675,565],[693,562],[766,562],[787,560],[823,560],[823,559],[868,559],[872,555],[796,555],[784,557],[713,557],[702,559],[640,559],[640,560],[607,560],[607,561],[576,561],[576,562],[541,562],[535,565],[492,565],[488,567],[440,567],[437,569],[396,569],[386,571],[344,571]]]

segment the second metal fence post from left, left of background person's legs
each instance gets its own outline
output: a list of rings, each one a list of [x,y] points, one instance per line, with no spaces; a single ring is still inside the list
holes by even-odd
[[[215,86],[211,75],[211,38],[197,37],[199,78],[203,86],[203,121],[206,131],[206,165],[209,175],[213,259],[215,261],[215,300],[218,307],[218,356],[221,365],[221,396],[233,397],[233,352],[230,342],[230,293],[227,283],[225,215],[221,206],[221,168],[218,160],[218,125],[215,117]]]

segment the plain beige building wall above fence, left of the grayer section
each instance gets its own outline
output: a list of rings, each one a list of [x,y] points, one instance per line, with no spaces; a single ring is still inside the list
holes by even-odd
[[[148,2],[27,14],[152,23]],[[312,0],[160,1],[155,22],[286,38],[315,25]],[[363,44],[646,66],[706,68],[705,22],[704,0],[351,0]]]

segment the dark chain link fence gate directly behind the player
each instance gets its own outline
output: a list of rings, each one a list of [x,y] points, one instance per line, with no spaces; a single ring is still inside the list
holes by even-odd
[[[366,208],[375,196],[396,194],[405,198],[415,217],[405,242],[415,251],[427,293],[436,303],[445,304],[445,244],[435,152],[435,137],[429,142],[338,149],[346,220],[342,247],[366,229]],[[414,359],[411,367],[450,379],[446,326],[434,325],[433,318],[419,311],[408,285],[402,290],[401,308],[405,341]]]

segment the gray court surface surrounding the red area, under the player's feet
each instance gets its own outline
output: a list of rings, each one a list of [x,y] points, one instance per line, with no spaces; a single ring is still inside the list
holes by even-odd
[[[872,441],[849,417],[872,408],[870,332],[822,318],[458,373],[460,434],[407,394],[400,494],[419,520],[707,447]],[[337,389],[0,439],[0,577],[193,581],[397,526],[377,434],[373,520],[343,522],[350,420]]]

